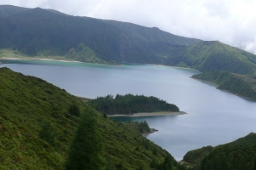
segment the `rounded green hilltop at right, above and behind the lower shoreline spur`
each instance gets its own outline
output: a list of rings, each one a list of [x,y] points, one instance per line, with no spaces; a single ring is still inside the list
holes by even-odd
[[[255,74],[256,71],[256,55],[221,42],[198,42],[166,61],[166,65],[179,63],[198,71],[229,71],[238,74]]]

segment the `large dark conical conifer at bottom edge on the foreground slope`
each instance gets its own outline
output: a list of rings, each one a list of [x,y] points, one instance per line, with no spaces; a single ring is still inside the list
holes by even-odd
[[[65,169],[105,169],[106,161],[102,157],[102,135],[99,133],[96,124],[96,116],[93,111],[84,110],[79,120],[79,127],[68,151]]]

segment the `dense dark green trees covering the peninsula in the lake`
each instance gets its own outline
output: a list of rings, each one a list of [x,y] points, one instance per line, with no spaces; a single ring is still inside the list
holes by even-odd
[[[88,102],[96,111],[102,114],[133,114],[138,112],[156,112],[156,111],[179,111],[177,105],[168,104],[162,99],[153,96],[144,95],[117,94],[115,98],[112,95],[97,97]]]

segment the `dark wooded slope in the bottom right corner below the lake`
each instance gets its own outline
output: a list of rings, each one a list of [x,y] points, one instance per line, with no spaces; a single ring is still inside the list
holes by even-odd
[[[228,144],[189,151],[183,161],[192,169],[255,169],[256,133]]]

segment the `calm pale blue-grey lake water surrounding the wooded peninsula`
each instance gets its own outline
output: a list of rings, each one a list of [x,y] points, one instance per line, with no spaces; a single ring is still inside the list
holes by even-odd
[[[189,150],[231,142],[256,132],[256,103],[190,78],[198,71],[163,65],[96,65],[49,60],[1,60],[25,75],[43,78],[68,93],[96,98],[112,94],[144,94],[173,103],[188,114],[119,118],[148,122],[159,130],[148,139],[178,161]]]

